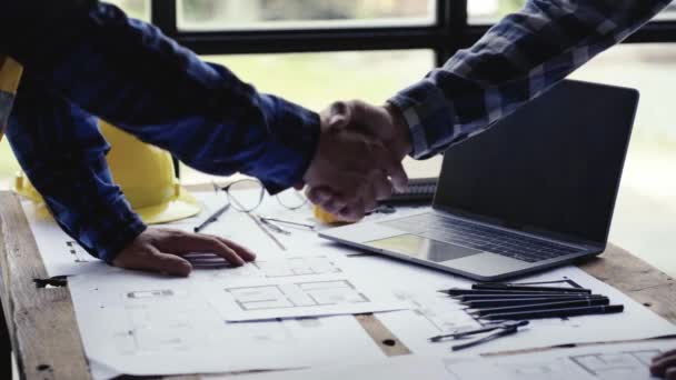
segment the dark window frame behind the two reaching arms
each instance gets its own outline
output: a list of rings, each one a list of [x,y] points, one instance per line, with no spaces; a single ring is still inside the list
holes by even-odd
[[[474,44],[490,28],[470,24],[468,0],[437,0],[436,23],[407,27],[338,27],[183,31],[177,0],[150,0],[152,23],[198,54],[251,54],[365,50],[434,50],[437,66]],[[676,42],[676,21],[653,21],[624,43]]]

